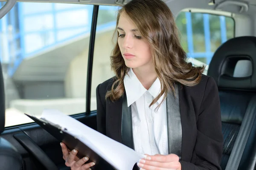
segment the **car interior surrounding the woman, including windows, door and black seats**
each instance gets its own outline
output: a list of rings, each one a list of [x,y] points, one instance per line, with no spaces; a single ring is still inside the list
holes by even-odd
[[[130,0],[0,2],[0,169],[69,170],[60,142],[24,113],[57,109],[97,129],[113,77],[116,11]],[[218,85],[222,170],[256,169],[256,0],[164,0],[188,62]]]

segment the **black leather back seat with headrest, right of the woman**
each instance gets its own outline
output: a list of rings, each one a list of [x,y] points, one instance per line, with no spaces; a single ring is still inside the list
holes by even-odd
[[[241,65],[241,61],[247,64]],[[246,74],[242,76],[242,72]],[[234,73],[240,75],[237,76]],[[256,96],[256,37],[236,37],[222,44],[212,57],[207,75],[215,79],[219,88],[224,135],[221,168],[224,170],[237,139],[244,114],[248,112],[249,102],[252,101],[253,96]],[[251,111],[250,114],[256,114],[256,112]],[[238,169],[253,170],[255,160],[256,121],[250,130]]]

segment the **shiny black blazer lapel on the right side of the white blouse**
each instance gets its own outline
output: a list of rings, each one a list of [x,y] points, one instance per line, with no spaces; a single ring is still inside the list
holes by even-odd
[[[173,93],[167,94],[166,111],[169,154],[174,153],[181,159],[182,127],[178,85],[175,86],[175,96]]]

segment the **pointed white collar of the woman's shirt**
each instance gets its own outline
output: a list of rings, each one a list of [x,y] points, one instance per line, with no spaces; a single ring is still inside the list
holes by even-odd
[[[134,71],[132,68],[128,71],[128,73],[124,77],[124,86],[125,86],[125,92],[127,96],[127,105],[128,107],[136,102],[140,97],[147,91],[147,89],[144,88],[144,86],[141,84],[140,80],[137,78],[137,76],[134,74]],[[161,83],[159,78],[157,78],[154,83],[151,85],[151,87],[148,89],[148,92],[156,98],[157,95],[161,91]],[[163,100],[163,95],[160,97],[160,99],[157,100],[158,104]]]

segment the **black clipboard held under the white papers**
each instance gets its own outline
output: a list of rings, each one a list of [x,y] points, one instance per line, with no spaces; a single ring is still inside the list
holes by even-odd
[[[29,116],[30,119],[34,120],[38,125],[40,125],[44,130],[46,130],[48,133],[54,136],[58,141],[66,144],[69,150],[76,149],[78,151],[78,154],[76,156],[79,159],[83,158],[84,156],[87,156],[89,160],[86,163],[89,163],[92,161],[95,162],[95,165],[92,167],[93,170],[95,170],[96,167],[97,169],[102,169],[102,166],[104,167],[104,169],[108,169],[108,170],[115,169],[113,166],[111,166],[111,164],[105,161],[105,159],[103,159],[101,156],[95,153],[90,147],[88,147],[86,144],[81,142],[76,137],[67,133],[65,131],[67,129],[63,129],[59,125],[55,125],[44,118],[38,119],[35,116],[31,116],[26,113],[24,114],[26,116]]]

